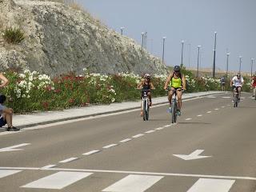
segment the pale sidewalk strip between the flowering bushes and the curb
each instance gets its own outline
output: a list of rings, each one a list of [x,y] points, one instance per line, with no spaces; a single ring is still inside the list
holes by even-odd
[[[199,93],[191,93],[191,94],[183,94],[182,98],[184,100],[188,98],[197,98],[202,96],[207,96],[210,94],[222,94],[222,91],[207,91],[207,92],[199,92]],[[167,98],[153,98],[153,105],[160,105],[163,103],[167,104]],[[49,124],[52,122],[61,122],[71,119],[77,118],[86,118],[90,116],[96,116],[100,114],[111,114],[115,112],[121,112],[124,110],[134,110],[140,108],[139,102],[121,102],[121,103],[112,103],[106,106],[86,106],[73,108],[69,110],[62,111],[47,111],[42,113],[35,114],[14,114],[14,126],[18,126],[19,128],[30,127],[30,126],[38,126]],[[5,129],[1,129],[0,132]]]

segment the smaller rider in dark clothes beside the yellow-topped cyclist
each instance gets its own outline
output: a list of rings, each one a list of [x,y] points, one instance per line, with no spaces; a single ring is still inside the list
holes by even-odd
[[[154,90],[154,85],[151,82],[151,75],[149,73],[144,74],[144,78],[142,78],[142,81],[138,83],[137,89],[142,90],[142,97],[143,97],[143,90],[148,90],[147,96],[150,100],[150,106],[152,106],[150,90]],[[142,104],[141,104],[141,116],[143,116]]]

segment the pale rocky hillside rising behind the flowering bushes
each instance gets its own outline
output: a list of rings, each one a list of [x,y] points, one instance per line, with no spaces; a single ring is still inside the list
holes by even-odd
[[[82,10],[58,2],[0,0],[0,29],[16,27],[25,39],[12,45],[0,35],[0,70],[37,70],[51,76],[91,72],[165,74],[166,67],[131,38],[102,26]]]

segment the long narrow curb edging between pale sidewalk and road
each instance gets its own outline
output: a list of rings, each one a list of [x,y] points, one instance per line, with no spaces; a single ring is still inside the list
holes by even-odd
[[[192,96],[190,98],[202,98],[202,97],[206,97],[208,95],[213,95],[213,94],[225,94],[225,93],[211,93],[211,94],[209,93],[209,94],[205,94],[205,95],[202,95],[202,96]],[[183,101],[186,101],[187,99],[190,99],[190,98],[184,98]],[[162,104],[165,104],[165,103],[167,103],[167,101],[166,102],[155,103],[154,106],[162,105]],[[129,111],[129,110],[137,110],[137,109],[140,109],[140,106],[130,107],[130,108],[122,109],[122,110],[106,111],[106,112],[97,113],[97,114],[86,114],[86,115],[76,116],[76,117],[72,117],[72,118],[59,118],[59,119],[56,119],[56,120],[50,120],[50,121],[46,121],[46,122],[35,122],[35,123],[30,123],[30,124],[27,124],[27,125],[23,125],[23,126],[18,126],[18,128],[23,129],[23,128],[28,128],[28,127],[31,127],[31,126],[43,126],[43,125],[51,124],[51,123],[54,123],[54,122],[65,122],[65,121],[79,119],[79,118],[89,118],[89,117],[95,117],[95,116],[99,116],[99,115],[103,115],[103,114],[115,114],[115,113],[118,113],[118,112]]]

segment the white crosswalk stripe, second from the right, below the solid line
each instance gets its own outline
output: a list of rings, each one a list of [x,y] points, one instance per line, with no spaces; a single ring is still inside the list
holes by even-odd
[[[130,174],[126,178],[108,186],[105,192],[143,192],[158,182],[162,176]]]

